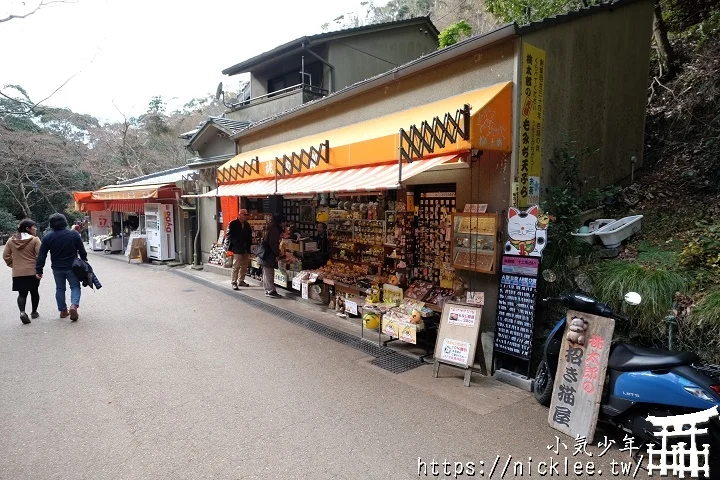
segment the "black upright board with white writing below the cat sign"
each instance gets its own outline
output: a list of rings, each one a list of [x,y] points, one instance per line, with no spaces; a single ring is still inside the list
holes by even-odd
[[[539,258],[504,255],[495,324],[495,352],[529,360]]]

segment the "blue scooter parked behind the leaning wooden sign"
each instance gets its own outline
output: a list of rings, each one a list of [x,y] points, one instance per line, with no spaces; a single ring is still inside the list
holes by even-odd
[[[629,293],[627,303],[637,305],[640,295]],[[570,310],[628,321],[599,301],[572,293],[547,298],[544,303],[560,303]],[[565,318],[561,318],[545,341],[544,358],[535,375],[535,399],[549,406],[553,379],[557,373],[560,349],[565,335]],[[657,428],[648,415],[669,416],[720,407],[720,368],[702,365],[694,353],[667,352],[613,343],[608,359],[598,420],[628,432],[643,444],[656,444]],[[720,479],[720,421],[716,417],[709,427],[710,475]]]

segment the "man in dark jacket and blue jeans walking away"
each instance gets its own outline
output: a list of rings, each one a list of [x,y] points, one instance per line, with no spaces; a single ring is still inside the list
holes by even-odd
[[[52,231],[42,239],[35,271],[37,278],[41,279],[45,260],[48,252],[50,252],[53,277],[55,277],[55,301],[60,311],[60,318],[70,317],[70,320],[74,322],[79,318],[80,281],[73,273],[72,265],[78,256],[87,262],[87,252],[80,234],[75,230],[68,230],[67,226],[67,218],[62,213],[50,215],[50,228]],[[65,302],[66,282],[70,285],[69,309]]]

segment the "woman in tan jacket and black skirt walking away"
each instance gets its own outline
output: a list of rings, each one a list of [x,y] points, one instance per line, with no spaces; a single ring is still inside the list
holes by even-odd
[[[37,238],[37,224],[26,218],[18,225],[17,233],[5,245],[3,260],[8,267],[12,268],[13,292],[18,292],[18,308],[20,309],[20,321],[25,325],[30,323],[30,318],[25,312],[27,296],[30,294],[32,311],[30,316],[38,318],[37,311],[40,303],[40,279],[35,276],[35,262],[40,252],[40,239]]]

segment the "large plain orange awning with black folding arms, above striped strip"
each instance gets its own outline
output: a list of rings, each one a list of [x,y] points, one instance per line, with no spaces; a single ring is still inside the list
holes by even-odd
[[[470,106],[469,139],[464,140],[458,135],[455,141],[451,141],[435,124],[442,123],[446,115],[454,117],[464,105]],[[308,159],[314,157],[317,164],[304,166],[300,174],[305,171],[326,172],[397,161],[401,145],[400,129],[411,134],[411,126],[416,126],[420,131],[423,130],[424,122],[435,128],[435,134],[444,139],[444,144],[435,141],[431,134],[426,132],[425,140],[433,143],[433,149],[431,152],[426,149],[422,158],[458,154],[474,148],[510,152],[511,114],[512,83],[503,82],[317,135],[240,153],[218,169],[218,180],[225,184],[231,181],[274,179],[276,160],[281,164],[284,160],[288,165],[292,162],[300,164],[298,159],[307,163]],[[450,127],[448,130],[454,131]],[[319,155],[311,153],[311,149],[321,150],[321,146],[326,145],[325,142],[329,152],[322,153],[327,157],[327,161],[317,161]],[[406,142],[403,142],[403,145],[407,146]],[[417,156],[413,155],[413,158]],[[282,168],[282,165],[280,167]],[[232,174],[229,170],[231,168],[242,170],[242,176]],[[295,175],[296,173],[293,173],[292,176]]]

